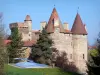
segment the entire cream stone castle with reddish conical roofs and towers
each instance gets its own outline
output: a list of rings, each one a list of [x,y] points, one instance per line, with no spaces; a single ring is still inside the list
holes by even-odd
[[[74,62],[80,72],[85,72],[87,61],[87,31],[79,13],[75,17],[71,30],[68,29],[68,23],[62,25],[56,8],[53,9],[48,23],[44,21],[40,24],[40,30],[32,30],[32,20],[27,15],[24,23],[11,23],[10,28],[18,27],[23,41],[36,41],[39,38],[39,33],[45,28],[54,41],[53,47],[59,51],[65,51],[68,60]]]

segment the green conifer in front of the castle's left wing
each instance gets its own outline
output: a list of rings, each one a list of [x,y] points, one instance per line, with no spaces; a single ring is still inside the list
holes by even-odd
[[[9,62],[13,62],[14,58],[22,57],[24,49],[23,42],[17,27],[11,28],[11,43],[8,45]]]

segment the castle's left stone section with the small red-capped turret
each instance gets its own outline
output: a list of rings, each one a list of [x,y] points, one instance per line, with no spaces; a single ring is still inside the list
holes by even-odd
[[[22,36],[22,41],[32,41],[39,38],[38,31],[32,30],[32,20],[29,15],[26,16],[24,22],[16,22],[10,24],[10,29],[18,27],[19,33]]]

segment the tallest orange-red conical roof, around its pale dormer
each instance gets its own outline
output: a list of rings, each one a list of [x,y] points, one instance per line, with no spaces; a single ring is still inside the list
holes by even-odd
[[[61,24],[61,21],[60,21],[60,18],[58,16],[58,13],[56,11],[56,8],[53,9],[52,11],[52,14],[50,16],[50,19],[48,21],[48,24],[46,26],[46,30],[48,33],[52,33],[54,32],[54,29],[55,29],[55,26],[54,26],[54,22],[57,21],[58,22],[58,27],[60,28],[60,32],[65,32],[62,24]]]

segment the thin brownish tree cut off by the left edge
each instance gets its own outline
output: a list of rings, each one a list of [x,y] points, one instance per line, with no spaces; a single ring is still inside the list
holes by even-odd
[[[4,24],[2,22],[3,15],[0,13],[0,75],[4,73],[4,64],[7,60],[7,51],[4,45]]]

